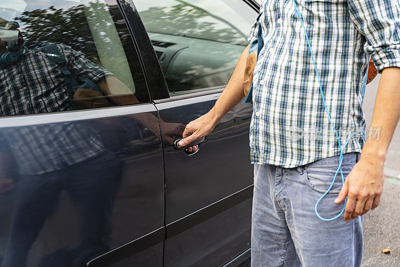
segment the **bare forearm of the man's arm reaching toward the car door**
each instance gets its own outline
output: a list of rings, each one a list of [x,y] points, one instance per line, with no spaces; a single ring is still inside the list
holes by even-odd
[[[247,56],[248,46],[241,54],[239,61],[237,62],[236,68],[234,69],[233,75],[229,80],[229,83],[223,90],[222,94],[219,96],[214,107],[210,110],[210,113],[214,118],[215,125],[244,97],[243,77]]]

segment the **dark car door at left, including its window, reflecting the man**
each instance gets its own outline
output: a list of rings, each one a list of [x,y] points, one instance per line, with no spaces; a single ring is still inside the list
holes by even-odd
[[[29,50],[0,70],[8,79],[0,83],[0,265],[161,266],[158,114],[121,6],[0,6]],[[64,63],[52,62],[57,51],[43,53],[48,44]],[[69,97],[65,66],[86,95]]]

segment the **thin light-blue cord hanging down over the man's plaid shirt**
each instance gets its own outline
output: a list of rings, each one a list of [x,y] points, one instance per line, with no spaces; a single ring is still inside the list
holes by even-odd
[[[322,98],[323,107],[325,108],[325,112],[326,112],[326,115],[328,116],[329,123],[330,123],[330,125],[333,127],[334,133],[335,133],[336,138],[337,138],[337,143],[338,143],[339,148],[340,148],[339,166],[338,166],[338,168],[337,168],[337,170],[336,170],[336,172],[335,172],[335,174],[334,174],[334,176],[333,176],[333,180],[332,180],[332,182],[330,183],[330,186],[329,186],[329,188],[326,190],[326,192],[323,193],[323,195],[318,199],[318,201],[316,201],[315,207],[314,207],[315,214],[316,214],[316,216],[317,216],[318,218],[320,218],[321,220],[324,220],[324,221],[330,221],[330,220],[336,219],[337,217],[339,217],[339,216],[344,212],[344,208],[345,208],[345,205],[346,205],[347,197],[346,197],[345,200],[344,200],[343,209],[340,211],[339,214],[337,214],[336,216],[334,216],[334,217],[332,217],[332,218],[323,218],[323,217],[321,217],[321,216],[319,215],[319,213],[318,213],[318,211],[317,211],[318,203],[319,203],[319,201],[322,200],[322,198],[323,198],[323,197],[330,191],[330,189],[332,188],[332,186],[333,186],[333,184],[334,184],[334,181],[336,180],[336,177],[337,177],[337,174],[338,174],[339,171],[340,171],[340,176],[341,176],[341,184],[342,184],[342,185],[344,184],[343,171],[342,171],[342,169],[341,169],[341,164],[342,164],[342,162],[343,162],[343,151],[344,151],[344,149],[346,148],[348,142],[353,138],[353,136],[354,136],[355,134],[361,133],[361,134],[363,135],[363,138],[365,139],[365,133],[362,132],[362,131],[354,132],[354,133],[350,136],[350,139],[348,139],[347,142],[344,144],[344,146],[343,146],[343,147],[341,146],[339,134],[337,133],[337,130],[336,130],[336,128],[334,127],[334,124],[332,123],[332,120],[330,119],[329,112],[328,112],[328,110],[327,110],[327,108],[326,108],[325,97],[323,96],[322,85],[321,85],[321,81],[320,81],[320,79],[319,79],[318,69],[316,68],[316,64],[315,64],[315,60],[314,60],[314,55],[312,54],[311,44],[310,44],[309,39],[308,39],[307,31],[305,30],[305,26],[304,26],[304,22],[303,22],[302,16],[301,16],[300,12],[298,11],[297,5],[296,5],[296,3],[294,3],[294,0],[292,0],[292,2],[293,2],[293,5],[294,5],[294,9],[296,10],[296,13],[297,13],[297,15],[298,15],[298,18],[300,19],[301,25],[302,25],[302,27],[303,27],[303,29],[304,29],[305,39],[307,40],[307,45],[308,45],[309,52],[311,53],[311,59],[312,59],[312,63],[314,64],[314,69],[315,69],[316,77],[318,78],[319,91],[320,91],[320,93],[321,93],[321,98]]]

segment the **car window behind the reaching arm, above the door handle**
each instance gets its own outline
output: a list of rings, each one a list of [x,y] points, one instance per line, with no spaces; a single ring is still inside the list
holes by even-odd
[[[169,94],[226,85],[256,13],[241,0],[136,0]]]

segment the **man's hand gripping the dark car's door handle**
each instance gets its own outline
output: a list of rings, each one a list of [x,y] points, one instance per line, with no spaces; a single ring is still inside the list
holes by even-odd
[[[191,121],[186,125],[182,134],[183,139],[178,143],[179,146],[186,146],[195,140],[207,136],[218,124],[218,120],[213,116],[212,110],[200,118]]]

